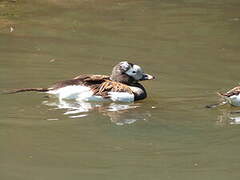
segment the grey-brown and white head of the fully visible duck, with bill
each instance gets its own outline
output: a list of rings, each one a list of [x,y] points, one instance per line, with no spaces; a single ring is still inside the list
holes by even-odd
[[[140,66],[127,61],[122,61],[114,66],[110,78],[113,81],[129,85],[138,81],[155,79],[154,76],[144,73]]]

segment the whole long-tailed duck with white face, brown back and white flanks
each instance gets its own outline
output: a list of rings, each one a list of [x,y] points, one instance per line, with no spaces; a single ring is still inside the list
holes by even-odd
[[[60,100],[133,102],[147,97],[146,89],[139,82],[152,79],[155,77],[144,73],[139,65],[121,61],[113,67],[111,75],[82,74],[48,88],[21,88],[8,94],[36,91]]]

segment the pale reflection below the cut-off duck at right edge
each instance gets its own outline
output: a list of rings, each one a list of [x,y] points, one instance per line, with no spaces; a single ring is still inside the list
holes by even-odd
[[[221,109],[221,113],[218,116],[217,124],[219,125],[236,125],[240,124],[240,110],[233,109]]]

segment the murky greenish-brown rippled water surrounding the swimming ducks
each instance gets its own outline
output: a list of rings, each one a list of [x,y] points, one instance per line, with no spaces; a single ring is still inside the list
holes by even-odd
[[[122,59],[157,79],[130,104],[1,95],[1,179],[239,179],[239,108],[204,108],[239,83],[239,5],[11,4],[16,15],[1,16],[0,90],[108,74]]]

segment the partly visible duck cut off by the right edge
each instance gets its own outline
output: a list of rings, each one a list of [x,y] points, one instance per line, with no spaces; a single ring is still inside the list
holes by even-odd
[[[221,97],[222,101],[217,104],[207,105],[207,108],[213,108],[225,104],[240,106],[240,86],[236,86],[225,93],[217,92],[217,95]]]

